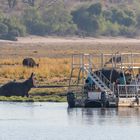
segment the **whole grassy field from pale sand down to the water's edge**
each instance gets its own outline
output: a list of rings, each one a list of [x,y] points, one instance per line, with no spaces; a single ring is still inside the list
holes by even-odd
[[[36,85],[68,85],[73,53],[140,52],[139,39],[125,38],[19,38],[0,41],[0,84],[23,81],[31,72]],[[22,66],[25,57],[33,57],[39,67]],[[30,98],[0,97],[5,101],[66,101],[67,88],[32,89]]]

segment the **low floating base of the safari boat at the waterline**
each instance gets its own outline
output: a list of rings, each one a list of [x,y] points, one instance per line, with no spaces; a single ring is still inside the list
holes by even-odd
[[[69,107],[140,107],[140,99],[137,96],[115,97],[110,95],[110,97],[105,97],[105,95],[100,94],[98,97],[97,95],[95,95],[96,97],[91,95],[86,98],[75,98],[73,93],[70,94],[67,96]]]

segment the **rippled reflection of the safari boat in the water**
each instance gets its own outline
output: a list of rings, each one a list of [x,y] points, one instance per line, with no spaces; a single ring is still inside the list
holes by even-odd
[[[71,121],[83,124],[140,125],[140,108],[68,108],[67,113]]]

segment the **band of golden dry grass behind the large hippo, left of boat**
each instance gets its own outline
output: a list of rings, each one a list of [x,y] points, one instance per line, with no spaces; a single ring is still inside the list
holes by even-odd
[[[35,59],[39,67],[27,68],[22,66],[23,58],[0,60],[0,83],[7,80],[26,79],[34,72],[38,82],[51,81],[54,78],[66,78],[70,73],[70,59],[39,58]]]

